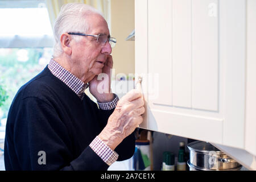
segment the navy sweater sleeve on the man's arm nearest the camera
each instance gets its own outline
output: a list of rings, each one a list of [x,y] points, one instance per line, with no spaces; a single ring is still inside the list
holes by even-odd
[[[106,170],[106,164],[89,146],[73,159],[67,126],[46,102],[27,97],[15,116],[14,145],[23,170]]]

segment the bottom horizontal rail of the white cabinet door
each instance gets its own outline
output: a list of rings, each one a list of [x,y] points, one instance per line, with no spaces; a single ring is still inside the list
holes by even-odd
[[[148,129],[222,143],[222,119],[163,110],[148,110]]]

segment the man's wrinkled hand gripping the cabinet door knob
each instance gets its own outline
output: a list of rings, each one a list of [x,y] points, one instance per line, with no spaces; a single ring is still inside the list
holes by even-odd
[[[98,135],[112,150],[142,123],[144,101],[140,90],[133,89],[118,101],[108,124]]]

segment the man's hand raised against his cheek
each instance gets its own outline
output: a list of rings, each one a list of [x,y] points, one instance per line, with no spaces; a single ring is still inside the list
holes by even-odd
[[[96,75],[92,81],[89,82],[90,93],[97,99],[98,102],[110,102],[114,99],[114,94],[111,93],[111,69],[113,68],[112,55],[108,55],[104,67],[102,68],[102,78],[98,80]],[[100,75],[101,76],[101,75]]]

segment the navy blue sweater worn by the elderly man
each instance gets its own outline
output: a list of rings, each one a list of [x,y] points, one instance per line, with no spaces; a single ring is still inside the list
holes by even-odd
[[[11,104],[5,137],[6,170],[106,170],[89,144],[106,126],[112,110],[83,100],[46,67],[23,85]],[[131,158],[134,133],[115,151],[118,160]],[[44,151],[46,164],[38,160]]]

